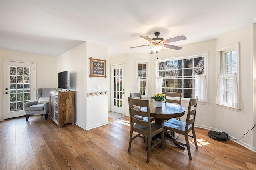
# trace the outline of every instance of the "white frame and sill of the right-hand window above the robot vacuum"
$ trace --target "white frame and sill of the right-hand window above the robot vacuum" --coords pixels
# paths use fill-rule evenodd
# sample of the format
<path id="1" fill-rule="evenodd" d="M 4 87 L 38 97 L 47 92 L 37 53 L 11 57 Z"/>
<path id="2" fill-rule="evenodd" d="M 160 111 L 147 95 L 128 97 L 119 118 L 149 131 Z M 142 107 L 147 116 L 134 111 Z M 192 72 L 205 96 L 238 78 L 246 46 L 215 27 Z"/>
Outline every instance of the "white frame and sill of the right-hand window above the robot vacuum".
<path id="1" fill-rule="evenodd" d="M 220 74 L 225 75 L 224 65 L 227 64 L 227 63 L 224 63 L 224 54 L 227 53 L 227 52 L 231 52 L 231 51 L 236 50 L 236 68 L 237 68 L 236 73 L 237 73 L 237 85 L 238 85 L 237 108 L 231 107 L 230 103 L 224 102 L 225 97 L 223 97 L 222 104 L 217 104 L 216 103 L 216 105 L 219 106 L 219 107 L 223 107 L 223 108 L 230 109 L 230 110 L 233 110 L 233 111 L 238 111 L 238 112 L 240 112 L 240 110 L 241 110 L 240 109 L 240 91 L 239 91 L 239 89 L 240 89 L 240 50 L 239 49 L 240 49 L 239 48 L 239 42 L 236 42 L 236 43 L 233 43 L 233 44 L 230 44 L 230 45 L 227 45 L 225 47 L 217 49 L 218 75 L 220 75 Z M 225 76 L 225 77 L 230 78 L 231 75 L 230 76 Z M 218 86 L 216 86 L 216 88 L 218 88 Z"/>

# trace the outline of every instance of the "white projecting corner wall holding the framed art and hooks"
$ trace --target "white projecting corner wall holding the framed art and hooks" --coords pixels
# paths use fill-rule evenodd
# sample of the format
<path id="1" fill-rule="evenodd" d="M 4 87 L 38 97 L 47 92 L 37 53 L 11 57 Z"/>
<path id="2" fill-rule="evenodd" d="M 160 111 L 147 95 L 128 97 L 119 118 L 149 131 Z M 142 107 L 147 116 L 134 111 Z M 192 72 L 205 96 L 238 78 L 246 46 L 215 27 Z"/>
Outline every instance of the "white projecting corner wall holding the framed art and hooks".
<path id="1" fill-rule="evenodd" d="M 85 130 L 108 123 L 108 96 L 87 97 L 93 86 L 108 89 L 108 77 L 89 77 L 90 57 L 107 60 L 108 48 L 85 42 L 57 57 L 57 72 L 68 71 L 70 90 L 75 91 L 75 123 Z"/>

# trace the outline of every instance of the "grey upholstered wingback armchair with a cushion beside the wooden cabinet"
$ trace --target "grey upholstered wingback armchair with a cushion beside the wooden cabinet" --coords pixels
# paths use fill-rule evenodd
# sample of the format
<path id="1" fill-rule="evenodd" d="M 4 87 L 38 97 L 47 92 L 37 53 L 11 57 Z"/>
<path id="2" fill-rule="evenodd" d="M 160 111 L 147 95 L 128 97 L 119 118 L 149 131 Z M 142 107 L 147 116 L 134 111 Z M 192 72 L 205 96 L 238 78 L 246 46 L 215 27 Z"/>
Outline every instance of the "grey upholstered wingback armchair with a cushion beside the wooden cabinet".
<path id="1" fill-rule="evenodd" d="M 49 109 L 49 91 L 56 90 L 56 88 L 37 89 L 36 101 L 28 101 L 24 104 L 26 113 L 26 120 L 28 121 L 29 115 L 44 115 L 45 120 L 48 119 Z"/>

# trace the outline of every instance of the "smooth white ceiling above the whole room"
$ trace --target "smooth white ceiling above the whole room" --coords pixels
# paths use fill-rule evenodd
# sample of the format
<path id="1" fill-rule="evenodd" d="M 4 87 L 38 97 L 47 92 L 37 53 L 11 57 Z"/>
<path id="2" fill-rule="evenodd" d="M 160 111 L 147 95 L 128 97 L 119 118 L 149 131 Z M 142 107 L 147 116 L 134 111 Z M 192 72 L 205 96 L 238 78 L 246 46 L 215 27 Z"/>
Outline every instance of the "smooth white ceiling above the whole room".
<path id="1" fill-rule="evenodd" d="M 256 0 L 0 0 L 0 49 L 57 57 L 83 42 L 109 55 L 150 53 L 140 36 L 186 45 L 249 26 Z M 173 50 L 173 49 L 168 49 Z M 181 49 L 182 50 L 182 49 Z"/>

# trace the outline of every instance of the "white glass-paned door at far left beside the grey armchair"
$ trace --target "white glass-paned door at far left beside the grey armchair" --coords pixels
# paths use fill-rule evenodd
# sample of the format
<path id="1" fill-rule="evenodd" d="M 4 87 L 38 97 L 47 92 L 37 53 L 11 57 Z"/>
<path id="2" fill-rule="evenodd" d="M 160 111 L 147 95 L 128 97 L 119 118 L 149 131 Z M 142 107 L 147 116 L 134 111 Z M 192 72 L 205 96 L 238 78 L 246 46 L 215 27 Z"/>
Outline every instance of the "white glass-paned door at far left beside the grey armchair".
<path id="1" fill-rule="evenodd" d="M 24 116 L 24 103 L 34 100 L 34 64 L 4 61 L 4 119 Z"/>

